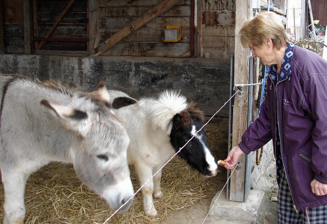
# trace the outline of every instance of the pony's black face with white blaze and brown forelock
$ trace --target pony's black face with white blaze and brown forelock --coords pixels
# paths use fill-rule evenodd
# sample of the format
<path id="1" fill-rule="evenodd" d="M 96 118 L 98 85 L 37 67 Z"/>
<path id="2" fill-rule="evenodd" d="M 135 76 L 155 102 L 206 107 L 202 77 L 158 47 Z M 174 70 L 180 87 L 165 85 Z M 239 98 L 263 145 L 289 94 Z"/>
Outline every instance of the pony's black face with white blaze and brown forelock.
<path id="1" fill-rule="evenodd" d="M 184 111 L 173 118 L 170 141 L 175 151 L 182 148 L 178 155 L 185 159 L 194 169 L 205 176 L 212 177 L 218 173 L 217 161 L 209 150 L 202 119 L 197 114 Z M 197 131 L 200 130 L 198 133 Z M 197 133 L 197 134 L 196 134 Z"/>

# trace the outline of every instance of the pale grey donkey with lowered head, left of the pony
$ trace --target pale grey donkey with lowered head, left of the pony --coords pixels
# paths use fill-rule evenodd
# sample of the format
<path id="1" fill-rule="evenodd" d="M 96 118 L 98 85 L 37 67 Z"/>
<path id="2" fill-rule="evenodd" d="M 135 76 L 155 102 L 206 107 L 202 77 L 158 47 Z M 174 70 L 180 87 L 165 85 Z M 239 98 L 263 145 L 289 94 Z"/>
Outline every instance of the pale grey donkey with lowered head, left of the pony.
<path id="1" fill-rule="evenodd" d="M 113 209 L 133 186 L 127 163 L 129 137 L 113 116 L 104 83 L 83 93 L 54 81 L 0 76 L 0 169 L 5 189 L 5 224 L 24 223 L 25 184 L 51 161 L 73 163 L 80 180 Z"/>

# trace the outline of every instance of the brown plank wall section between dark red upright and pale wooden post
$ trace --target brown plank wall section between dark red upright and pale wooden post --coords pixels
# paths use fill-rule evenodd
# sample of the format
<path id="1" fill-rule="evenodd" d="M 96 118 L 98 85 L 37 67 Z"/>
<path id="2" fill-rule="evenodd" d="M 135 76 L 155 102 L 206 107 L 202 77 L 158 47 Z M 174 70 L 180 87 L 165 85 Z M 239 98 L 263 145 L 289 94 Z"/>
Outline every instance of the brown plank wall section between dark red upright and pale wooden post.
<path id="1" fill-rule="evenodd" d="M 202 0 L 198 25 L 201 58 L 230 59 L 235 50 L 235 0 Z"/>

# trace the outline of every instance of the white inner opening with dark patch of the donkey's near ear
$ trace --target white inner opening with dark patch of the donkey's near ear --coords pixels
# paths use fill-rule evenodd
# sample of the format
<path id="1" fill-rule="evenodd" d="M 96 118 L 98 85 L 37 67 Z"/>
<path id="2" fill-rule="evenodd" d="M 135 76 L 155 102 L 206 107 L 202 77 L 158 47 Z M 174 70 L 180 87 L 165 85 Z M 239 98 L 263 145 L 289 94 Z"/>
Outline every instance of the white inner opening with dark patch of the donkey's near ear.
<path id="1" fill-rule="evenodd" d="M 50 109 L 51 113 L 54 115 L 65 118 L 65 119 L 73 119 L 73 120 L 83 120 L 87 118 L 87 114 L 81 110 L 74 109 L 69 106 L 62 106 L 54 103 L 50 103 L 48 100 L 41 100 L 41 105 Z"/>

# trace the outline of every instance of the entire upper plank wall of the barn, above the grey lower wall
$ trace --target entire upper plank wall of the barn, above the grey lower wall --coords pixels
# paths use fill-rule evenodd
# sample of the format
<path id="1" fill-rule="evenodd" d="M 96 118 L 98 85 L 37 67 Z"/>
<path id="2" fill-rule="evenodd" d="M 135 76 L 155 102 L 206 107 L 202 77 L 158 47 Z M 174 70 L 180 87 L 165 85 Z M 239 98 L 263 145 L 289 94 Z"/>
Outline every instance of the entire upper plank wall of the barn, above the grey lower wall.
<path id="1" fill-rule="evenodd" d="M 49 35 L 60 13 L 69 3 L 67 0 L 29 0 L 36 2 L 37 10 L 34 26 L 34 38 Z M 88 21 L 88 3 L 97 2 L 97 22 Z M 96 33 L 92 35 L 93 44 L 108 39 L 131 21 L 144 16 L 150 9 L 164 0 L 75 0 L 75 3 L 64 15 L 50 38 L 78 39 L 88 37 L 88 24 L 96 25 Z M 2 1 L 4 12 L 4 40 L 6 53 L 24 53 L 24 12 L 23 0 Z M 192 27 L 191 4 L 195 5 L 197 15 Z M 143 27 L 122 39 L 102 55 L 107 56 L 143 56 L 169 58 L 206 58 L 230 59 L 235 47 L 235 0 L 181 0 L 168 11 L 160 14 Z M 181 41 L 166 43 L 162 39 L 166 25 L 181 25 Z M 91 27 L 94 29 L 94 27 Z M 195 35 L 192 35 L 193 32 Z M 37 49 L 37 44 L 34 48 Z M 191 43 L 194 48 L 191 49 Z M 52 51 L 88 51 L 86 42 L 80 41 L 48 41 L 41 50 Z M 34 50 L 35 50 L 34 49 Z M 194 53 L 193 53 L 194 52 Z"/>

